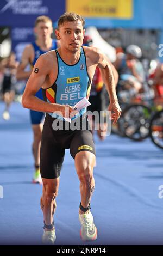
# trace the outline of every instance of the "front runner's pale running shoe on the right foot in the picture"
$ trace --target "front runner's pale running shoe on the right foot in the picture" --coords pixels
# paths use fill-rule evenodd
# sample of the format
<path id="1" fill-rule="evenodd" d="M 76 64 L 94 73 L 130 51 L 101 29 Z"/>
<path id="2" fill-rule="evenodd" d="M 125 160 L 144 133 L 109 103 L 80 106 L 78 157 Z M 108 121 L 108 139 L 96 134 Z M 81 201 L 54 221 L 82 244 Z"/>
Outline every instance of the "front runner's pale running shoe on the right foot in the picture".
<path id="1" fill-rule="evenodd" d="M 93 216 L 88 214 L 79 214 L 79 221 L 82 225 L 80 236 L 83 241 L 93 241 L 97 239 L 97 228 L 93 223 Z"/>

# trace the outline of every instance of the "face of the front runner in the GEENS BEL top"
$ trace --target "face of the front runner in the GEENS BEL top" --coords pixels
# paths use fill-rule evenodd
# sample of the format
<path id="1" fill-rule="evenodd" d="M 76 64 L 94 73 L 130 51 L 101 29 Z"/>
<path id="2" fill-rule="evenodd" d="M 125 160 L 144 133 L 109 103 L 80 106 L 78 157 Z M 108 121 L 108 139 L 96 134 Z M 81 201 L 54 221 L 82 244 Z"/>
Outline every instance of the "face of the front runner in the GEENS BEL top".
<path id="1" fill-rule="evenodd" d="M 55 31 L 61 47 L 71 52 L 76 52 L 83 44 L 84 29 L 82 21 L 67 21 Z"/>

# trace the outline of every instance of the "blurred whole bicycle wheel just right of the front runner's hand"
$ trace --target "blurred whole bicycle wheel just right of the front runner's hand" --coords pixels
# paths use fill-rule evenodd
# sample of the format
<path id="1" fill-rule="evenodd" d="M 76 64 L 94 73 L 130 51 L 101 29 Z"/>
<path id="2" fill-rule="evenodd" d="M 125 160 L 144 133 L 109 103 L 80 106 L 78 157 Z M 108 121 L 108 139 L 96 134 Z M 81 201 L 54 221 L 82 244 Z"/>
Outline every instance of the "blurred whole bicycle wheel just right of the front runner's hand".
<path id="1" fill-rule="evenodd" d="M 120 122 L 121 130 L 128 138 L 134 141 L 142 141 L 149 136 L 151 112 L 149 107 L 141 104 L 126 107 Z"/>

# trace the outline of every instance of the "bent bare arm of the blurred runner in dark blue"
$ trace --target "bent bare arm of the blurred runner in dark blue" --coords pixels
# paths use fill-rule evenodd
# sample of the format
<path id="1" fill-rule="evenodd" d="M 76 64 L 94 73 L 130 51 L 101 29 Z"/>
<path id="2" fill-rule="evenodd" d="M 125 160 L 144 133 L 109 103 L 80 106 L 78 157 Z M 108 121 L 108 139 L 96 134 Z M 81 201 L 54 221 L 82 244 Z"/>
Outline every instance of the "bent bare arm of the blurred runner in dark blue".
<path id="1" fill-rule="evenodd" d="M 24 51 L 22 53 L 21 62 L 17 68 L 17 73 L 16 73 L 17 80 L 29 78 L 32 71 L 25 71 L 25 69 L 26 69 L 26 66 L 30 64 L 30 62 L 32 60 L 32 55 L 33 55 L 32 45 L 27 45 L 26 48 L 24 48 Z"/>

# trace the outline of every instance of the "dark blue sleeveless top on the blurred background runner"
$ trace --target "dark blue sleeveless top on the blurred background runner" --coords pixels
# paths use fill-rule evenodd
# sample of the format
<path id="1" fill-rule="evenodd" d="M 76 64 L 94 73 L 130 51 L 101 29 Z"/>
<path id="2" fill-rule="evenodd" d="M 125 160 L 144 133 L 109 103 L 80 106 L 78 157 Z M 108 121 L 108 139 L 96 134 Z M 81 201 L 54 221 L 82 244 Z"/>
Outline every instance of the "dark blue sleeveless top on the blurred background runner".
<path id="1" fill-rule="evenodd" d="M 42 51 L 42 50 L 40 49 L 40 47 L 36 45 L 35 42 L 33 42 L 32 45 L 33 45 L 33 48 L 34 48 L 34 60 L 33 60 L 33 63 L 32 63 L 32 65 L 31 65 L 31 69 L 33 69 L 33 67 L 34 67 L 34 65 L 35 65 L 35 63 L 36 63 L 36 61 L 37 61 L 37 59 L 39 58 L 39 56 L 40 56 L 41 54 L 47 52 L 47 51 Z M 54 40 L 54 39 L 53 39 L 53 40 L 52 40 L 52 47 L 49 49 L 49 51 L 55 50 L 55 49 L 57 49 L 57 40 Z M 43 95 L 42 95 L 42 90 L 41 90 L 41 88 L 40 88 L 40 90 L 35 94 L 35 96 L 38 97 L 39 99 L 43 100 Z"/>

